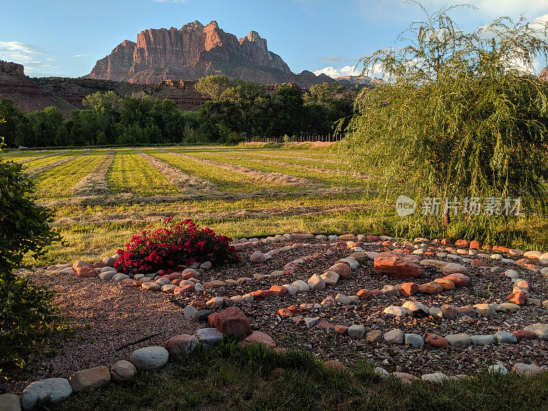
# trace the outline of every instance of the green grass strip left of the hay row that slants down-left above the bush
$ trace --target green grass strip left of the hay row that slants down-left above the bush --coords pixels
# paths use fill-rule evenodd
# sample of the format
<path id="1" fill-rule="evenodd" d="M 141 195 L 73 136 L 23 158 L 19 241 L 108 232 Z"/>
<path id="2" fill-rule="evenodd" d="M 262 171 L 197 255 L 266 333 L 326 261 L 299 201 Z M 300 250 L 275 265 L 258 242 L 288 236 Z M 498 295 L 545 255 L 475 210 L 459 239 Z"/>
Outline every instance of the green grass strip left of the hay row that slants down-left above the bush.
<path id="1" fill-rule="evenodd" d="M 91 151 L 55 166 L 36 177 L 36 195 L 43 200 L 68 198 L 72 188 L 91 173 L 105 157 L 105 151 Z"/>

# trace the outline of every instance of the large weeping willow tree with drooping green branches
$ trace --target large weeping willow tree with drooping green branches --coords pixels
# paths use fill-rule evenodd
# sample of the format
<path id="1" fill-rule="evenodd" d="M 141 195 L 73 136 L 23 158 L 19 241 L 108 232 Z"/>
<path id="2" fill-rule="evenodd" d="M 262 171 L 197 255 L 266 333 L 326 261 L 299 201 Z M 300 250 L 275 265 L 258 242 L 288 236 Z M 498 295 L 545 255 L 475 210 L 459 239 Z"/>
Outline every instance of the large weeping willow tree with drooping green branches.
<path id="1" fill-rule="evenodd" d="M 522 211 L 545 212 L 548 87 L 532 72 L 536 58 L 547 58 L 548 23 L 502 17 L 464 32 L 452 8 L 419 7 L 425 18 L 397 38 L 401 47 L 358 63 L 362 75 L 374 69 L 387 84 L 356 99 L 340 146 L 347 164 L 369 173 L 386 203 L 399 194 L 419 204 L 521 198 Z M 449 223 L 441 209 L 430 224 Z M 470 223 L 464 206 L 458 214 Z"/>

